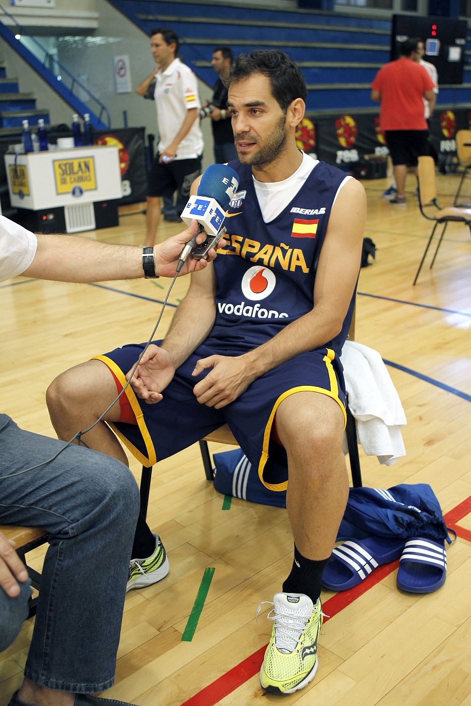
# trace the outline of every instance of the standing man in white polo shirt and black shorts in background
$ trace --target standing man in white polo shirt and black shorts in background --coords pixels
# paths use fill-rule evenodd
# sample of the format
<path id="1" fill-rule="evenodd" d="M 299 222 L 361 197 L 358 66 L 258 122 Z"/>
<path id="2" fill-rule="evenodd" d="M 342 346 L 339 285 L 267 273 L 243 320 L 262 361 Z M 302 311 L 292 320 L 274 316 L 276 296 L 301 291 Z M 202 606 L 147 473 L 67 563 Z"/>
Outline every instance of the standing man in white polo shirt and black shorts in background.
<path id="1" fill-rule="evenodd" d="M 169 29 L 152 30 L 150 49 L 157 68 L 138 85 L 136 93 L 155 100 L 160 136 L 148 177 L 145 245 L 152 247 L 160 221 L 160 199 L 172 198 L 177 191 L 177 213 L 181 213 L 193 180 L 201 174 L 204 143 L 196 76 L 177 58 L 177 34 Z"/>

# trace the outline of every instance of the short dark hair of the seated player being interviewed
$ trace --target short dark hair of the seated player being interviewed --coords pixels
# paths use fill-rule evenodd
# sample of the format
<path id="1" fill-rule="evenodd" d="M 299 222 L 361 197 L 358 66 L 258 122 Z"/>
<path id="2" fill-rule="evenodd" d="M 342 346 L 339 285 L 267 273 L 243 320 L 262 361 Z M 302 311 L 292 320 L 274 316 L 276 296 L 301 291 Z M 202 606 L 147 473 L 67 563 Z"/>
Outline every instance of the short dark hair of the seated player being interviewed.
<path id="1" fill-rule="evenodd" d="M 258 49 L 251 54 L 239 54 L 231 66 L 228 84 L 262 73 L 270 79 L 271 92 L 285 113 L 297 98 L 306 100 L 306 81 L 302 71 L 280 49 Z"/>

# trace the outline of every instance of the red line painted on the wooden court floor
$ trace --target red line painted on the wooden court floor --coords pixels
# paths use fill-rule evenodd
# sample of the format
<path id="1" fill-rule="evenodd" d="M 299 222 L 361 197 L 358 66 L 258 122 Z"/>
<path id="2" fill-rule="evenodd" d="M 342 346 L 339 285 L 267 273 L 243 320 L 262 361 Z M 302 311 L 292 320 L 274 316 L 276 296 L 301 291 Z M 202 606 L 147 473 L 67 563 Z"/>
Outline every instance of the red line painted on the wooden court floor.
<path id="1" fill-rule="evenodd" d="M 462 517 L 465 517 L 470 512 L 471 496 L 446 513 L 444 518 L 446 525 L 448 525 L 448 527 L 452 526 L 452 529 L 455 530 L 458 537 L 462 537 L 471 542 L 470 530 L 465 530 L 464 527 L 455 525 L 455 522 L 458 522 L 458 520 L 461 520 Z M 340 611 L 350 605 L 350 603 L 354 602 L 354 600 L 382 581 L 385 576 L 393 572 L 398 566 L 399 561 L 392 561 L 389 564 L 378 566 L 378 568 L 359 585 L 354 586 L 348 591 L 336 593 L 335 596 L 326 600 L 326 602 L 322 604 L 323 612 L 328 615 L 328 618 L 333 618 L 333 616 L 340 613 Z M 325 618 L 324 622 L 328 621 L 328 618 Z M 213 706 L 220 699 L 230 694 L 239 686 L 242 686 L 243 683 L 249 681 L 252 676 L 258 674 L 265 650 L 266 645 L 263 645 L 259 650 L 215 679 L 213 683 L 208 684 L 208 686 L 205 686 L 201 691 L 198 691 L 197 694 L 184 701 L 181 706 Z"/>

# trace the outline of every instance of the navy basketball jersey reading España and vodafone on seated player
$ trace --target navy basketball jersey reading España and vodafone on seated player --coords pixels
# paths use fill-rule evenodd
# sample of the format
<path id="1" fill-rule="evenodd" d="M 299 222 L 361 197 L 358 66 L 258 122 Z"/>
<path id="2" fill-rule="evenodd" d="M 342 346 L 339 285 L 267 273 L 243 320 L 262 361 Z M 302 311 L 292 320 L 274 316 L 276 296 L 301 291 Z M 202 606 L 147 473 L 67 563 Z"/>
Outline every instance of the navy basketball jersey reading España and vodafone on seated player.
<path id="1" fill-rule="evenodd" d="M 239 175 L 239 191 L 227 209 L 228 245 L 214 262 L 216 318 L 205 343 L 234 354 L 262 345 L 313 308 L 316 266 L 345 172 L 318 162 L 287 207 L 266 223 L 251 167 L 238 160 L 229 166 Z M 338 355 L 353 304 L 354 296 L 342 330 L 325 344 Z"/>

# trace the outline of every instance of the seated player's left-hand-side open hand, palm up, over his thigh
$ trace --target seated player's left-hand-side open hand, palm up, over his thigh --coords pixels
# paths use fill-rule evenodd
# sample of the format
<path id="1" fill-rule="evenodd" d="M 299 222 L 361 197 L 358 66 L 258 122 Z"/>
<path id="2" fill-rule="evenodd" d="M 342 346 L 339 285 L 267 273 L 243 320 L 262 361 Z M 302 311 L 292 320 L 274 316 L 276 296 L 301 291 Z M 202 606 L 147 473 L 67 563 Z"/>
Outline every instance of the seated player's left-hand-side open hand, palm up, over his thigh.
<path id="1" fill-rule="evenodd" d="M 130 373 L 126 375 L 126 380 L 129 380 Z M 154 405 L 162 400 L 162 390 L 165 390 L 174 374 L 172 356 L 165 348 L 151 343 L 131 378 L 131 387 L 148 405 Z"/>

